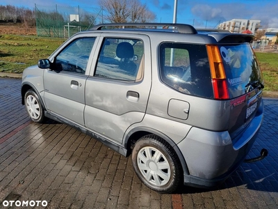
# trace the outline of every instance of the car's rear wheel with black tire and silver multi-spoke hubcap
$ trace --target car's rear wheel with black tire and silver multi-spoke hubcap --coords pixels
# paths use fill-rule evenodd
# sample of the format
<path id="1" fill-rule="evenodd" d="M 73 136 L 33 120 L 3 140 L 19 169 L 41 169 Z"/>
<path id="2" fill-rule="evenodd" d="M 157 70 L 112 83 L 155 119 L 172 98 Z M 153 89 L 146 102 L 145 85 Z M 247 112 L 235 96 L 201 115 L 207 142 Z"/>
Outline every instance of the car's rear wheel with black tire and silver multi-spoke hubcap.
<path id="1" fill-rule="evenodd" d="M 138 178 L 156 192 L 172 193 L 181 182 L 179 157 L 170 144 L 154 134 L 136 142 L 132 164 Z"/>

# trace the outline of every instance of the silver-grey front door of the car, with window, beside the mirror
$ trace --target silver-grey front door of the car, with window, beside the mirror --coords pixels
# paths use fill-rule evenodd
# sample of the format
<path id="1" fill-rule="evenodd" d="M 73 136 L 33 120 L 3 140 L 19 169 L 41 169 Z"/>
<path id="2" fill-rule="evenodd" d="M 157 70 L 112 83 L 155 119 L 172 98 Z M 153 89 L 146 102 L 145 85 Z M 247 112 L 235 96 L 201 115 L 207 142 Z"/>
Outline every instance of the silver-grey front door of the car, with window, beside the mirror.
<path id="1" fill-rule="evenodd" d="M 53 58 L 54 67 L 44 72 L 44 102 L 52 114 L 84 125 L 85 82 L 95 37 L 69 42 Z"/>

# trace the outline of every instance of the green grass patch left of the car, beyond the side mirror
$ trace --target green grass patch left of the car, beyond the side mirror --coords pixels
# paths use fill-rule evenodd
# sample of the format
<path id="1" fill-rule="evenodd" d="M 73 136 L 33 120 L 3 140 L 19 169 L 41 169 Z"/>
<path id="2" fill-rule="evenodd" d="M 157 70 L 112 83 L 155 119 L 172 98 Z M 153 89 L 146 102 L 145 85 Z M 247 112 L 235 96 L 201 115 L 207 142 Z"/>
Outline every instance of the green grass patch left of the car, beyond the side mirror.
<path id="1" fill-rule="evenodd" d="M 0 36 L 0 72 L 23 72 L 49 57 L 65 39 L 36 36 Z"/>

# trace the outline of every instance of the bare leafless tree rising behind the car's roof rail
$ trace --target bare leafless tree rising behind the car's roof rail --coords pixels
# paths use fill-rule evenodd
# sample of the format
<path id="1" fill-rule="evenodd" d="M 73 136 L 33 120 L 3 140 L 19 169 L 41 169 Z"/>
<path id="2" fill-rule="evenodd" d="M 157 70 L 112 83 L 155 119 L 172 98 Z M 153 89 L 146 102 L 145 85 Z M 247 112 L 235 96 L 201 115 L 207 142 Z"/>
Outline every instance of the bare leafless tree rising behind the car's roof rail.
<path id="1" fill-rule="evenodd" d="M 109 22 L 150 22 L 156 15 L 139 0 L 100 0 L 99 5 L 104 8 L 105 20 Z"/>

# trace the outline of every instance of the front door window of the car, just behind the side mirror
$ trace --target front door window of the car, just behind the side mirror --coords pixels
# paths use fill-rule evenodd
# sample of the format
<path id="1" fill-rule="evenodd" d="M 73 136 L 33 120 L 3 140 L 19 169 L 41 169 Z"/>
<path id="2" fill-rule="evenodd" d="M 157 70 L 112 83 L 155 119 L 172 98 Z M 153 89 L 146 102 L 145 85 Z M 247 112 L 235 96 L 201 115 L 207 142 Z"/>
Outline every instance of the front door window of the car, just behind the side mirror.
<path id="1" fill-rule="evenodd" d="M 79 38 L 71 42 L 56 56 L 56 69 L 85 74 L 94 42 L 95 38 L 92 37 Z"/>

